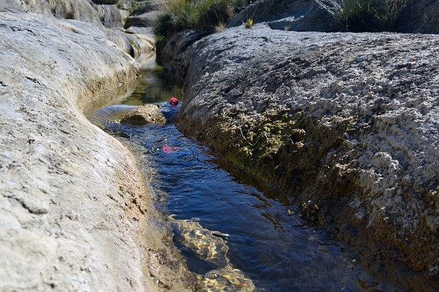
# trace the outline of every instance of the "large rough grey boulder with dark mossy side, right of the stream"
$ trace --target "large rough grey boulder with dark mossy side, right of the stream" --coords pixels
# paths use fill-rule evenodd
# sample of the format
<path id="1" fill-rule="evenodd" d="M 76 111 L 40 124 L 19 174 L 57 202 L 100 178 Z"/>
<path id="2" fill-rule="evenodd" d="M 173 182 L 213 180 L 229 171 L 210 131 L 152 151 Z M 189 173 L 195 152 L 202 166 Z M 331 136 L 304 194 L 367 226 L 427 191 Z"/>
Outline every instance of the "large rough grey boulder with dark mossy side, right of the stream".
<path id="1" fill-rule="evenodd" d="M 364 265 L 392 270 L 405 287 L 437 288 L 438 43 L 225 29 L 184 55 L 178 127 L 281 186 Z"/>

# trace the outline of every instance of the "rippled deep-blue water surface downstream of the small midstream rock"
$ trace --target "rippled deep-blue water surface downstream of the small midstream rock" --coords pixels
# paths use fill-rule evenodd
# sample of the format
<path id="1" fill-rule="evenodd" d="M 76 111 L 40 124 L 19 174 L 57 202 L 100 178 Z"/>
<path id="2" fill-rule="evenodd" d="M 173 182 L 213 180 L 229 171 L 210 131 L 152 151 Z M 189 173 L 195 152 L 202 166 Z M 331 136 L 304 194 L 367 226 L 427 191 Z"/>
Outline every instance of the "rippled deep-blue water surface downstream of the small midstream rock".
<path id="1" fill-rule="evenodd" d="M 244 184 L 242 174 L 236 178 L 219 167 L 208 149 L 182 136 L 175 125 L 131 131 L 158 169 L 153 182 L 166 194 L 163 207 L 175 219 L 196 217 L 202 228 L 229 234 L 230 263 L 259 291 L 362 291 L 366 286 L 392 291 L 362 269 L 346 247 L 307 226 L 284 195 Z M 165 143 L 178 151 L 161 151 Z M 182 249 L 193 271 L 210 271 Z"/>

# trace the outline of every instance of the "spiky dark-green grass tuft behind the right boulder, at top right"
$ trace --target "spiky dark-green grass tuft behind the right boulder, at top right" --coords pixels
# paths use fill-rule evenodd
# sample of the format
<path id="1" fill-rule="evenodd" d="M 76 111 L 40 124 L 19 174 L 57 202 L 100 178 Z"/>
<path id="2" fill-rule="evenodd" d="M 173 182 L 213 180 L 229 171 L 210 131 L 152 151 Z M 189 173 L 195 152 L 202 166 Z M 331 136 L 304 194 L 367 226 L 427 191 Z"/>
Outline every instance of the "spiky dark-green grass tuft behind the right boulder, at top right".
<path id="1" fill-rule="evenodd" d="M 396 20 L 411 0 L 315 0 L 350 32 L 394 29 Z"/>

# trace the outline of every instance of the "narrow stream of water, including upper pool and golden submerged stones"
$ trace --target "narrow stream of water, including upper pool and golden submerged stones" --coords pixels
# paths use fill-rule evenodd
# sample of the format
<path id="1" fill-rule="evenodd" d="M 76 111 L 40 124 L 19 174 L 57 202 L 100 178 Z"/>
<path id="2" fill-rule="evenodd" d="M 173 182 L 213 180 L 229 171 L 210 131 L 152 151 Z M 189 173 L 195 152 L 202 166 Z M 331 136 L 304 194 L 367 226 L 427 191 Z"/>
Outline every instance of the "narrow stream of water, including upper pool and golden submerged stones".
<path id="1" fill-rule="evenodd" d="M 154 69 L 143 72 L 143 81 L 123 104 L 160 104 L 169 116 L 178 110 L 167 104 L 171 96 L 182 99 L 178 82 Z M 238 276 L 223 277 L 229 279 L 222 282 L 223 291 L 251 290 L 246 280 L 255 291 L 395 290 L 361 267 L 348 247 L 308 226 L 283 193 L 227 167 L 173 123 L 122 125 L 121 130 L 129 136 L 121 139 L 141 145 L 140 155 L 156 168 L 152 185 L 161 194 L 158 205 L 171 220 L 182 222 L 176 245 L 200 278 L 221 278 L 221 266 L 227 265 Z M 188 245 L 185 236 L 201 243 Z M 197 247 L 210 249 L 211 257 L 200 256 Z"/>

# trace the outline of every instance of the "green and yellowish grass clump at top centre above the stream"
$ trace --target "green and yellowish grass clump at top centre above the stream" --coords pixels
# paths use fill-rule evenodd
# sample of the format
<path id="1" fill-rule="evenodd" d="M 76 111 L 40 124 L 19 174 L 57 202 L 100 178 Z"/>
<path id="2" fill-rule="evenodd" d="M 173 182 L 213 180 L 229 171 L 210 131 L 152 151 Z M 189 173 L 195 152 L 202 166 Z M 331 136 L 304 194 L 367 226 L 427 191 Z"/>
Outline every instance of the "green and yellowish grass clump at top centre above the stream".
<path id="1" fill-rule="evenodd" d="M 249 0 L 169 0 L 155 34 L 169 38 L 185 29 L 213 33 L 225 27 Z"/>

